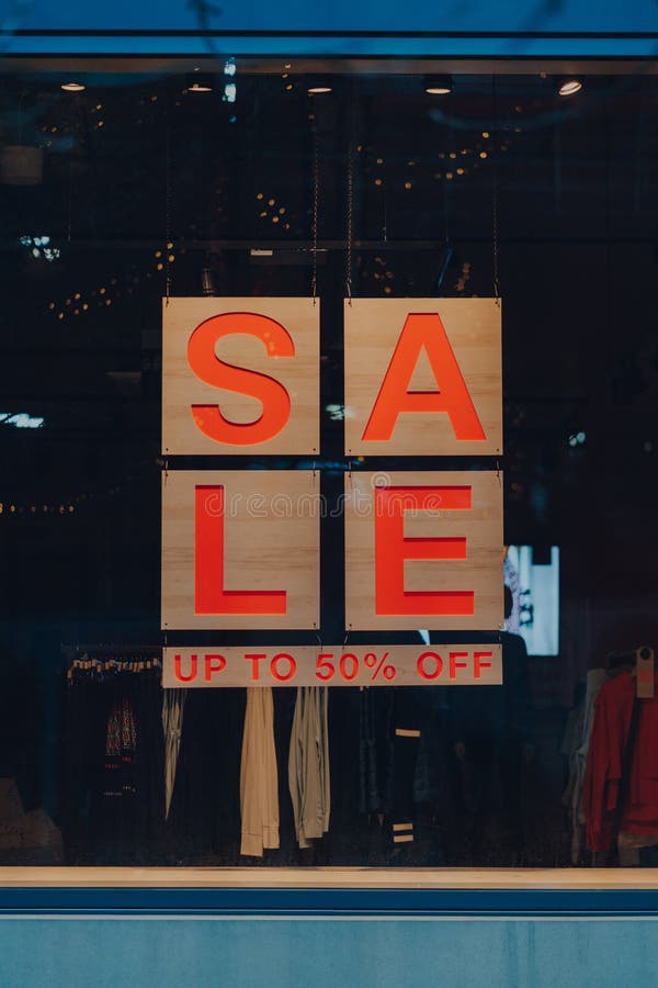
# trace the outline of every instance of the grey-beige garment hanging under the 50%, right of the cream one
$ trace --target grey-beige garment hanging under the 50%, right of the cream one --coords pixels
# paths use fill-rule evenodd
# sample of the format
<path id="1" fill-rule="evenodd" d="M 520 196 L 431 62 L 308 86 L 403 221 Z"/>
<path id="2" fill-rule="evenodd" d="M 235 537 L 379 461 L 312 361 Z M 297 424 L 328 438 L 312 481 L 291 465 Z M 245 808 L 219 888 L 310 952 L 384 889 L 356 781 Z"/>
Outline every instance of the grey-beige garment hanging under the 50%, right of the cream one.
<path id="1" fill-rule="evenodd" d="M 326 686 L 299 686 L 288 753 L 288 787 L 300 847 L 329 829 L 331 807 L 329 773 L 329 691 Z"/>

